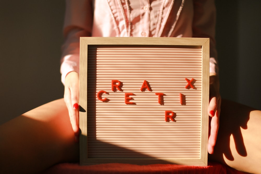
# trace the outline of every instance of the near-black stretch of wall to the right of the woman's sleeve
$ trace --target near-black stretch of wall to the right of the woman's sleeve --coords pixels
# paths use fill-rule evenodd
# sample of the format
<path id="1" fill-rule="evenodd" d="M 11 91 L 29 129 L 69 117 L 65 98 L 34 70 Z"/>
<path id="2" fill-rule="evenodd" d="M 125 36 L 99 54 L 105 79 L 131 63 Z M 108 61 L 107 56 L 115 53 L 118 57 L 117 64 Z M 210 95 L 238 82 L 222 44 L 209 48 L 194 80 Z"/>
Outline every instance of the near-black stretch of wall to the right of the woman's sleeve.
<path id="1" fill-rule="evenodd" d="M 216 1 L 221 95 L 261 110 L 261 1 Z"/>

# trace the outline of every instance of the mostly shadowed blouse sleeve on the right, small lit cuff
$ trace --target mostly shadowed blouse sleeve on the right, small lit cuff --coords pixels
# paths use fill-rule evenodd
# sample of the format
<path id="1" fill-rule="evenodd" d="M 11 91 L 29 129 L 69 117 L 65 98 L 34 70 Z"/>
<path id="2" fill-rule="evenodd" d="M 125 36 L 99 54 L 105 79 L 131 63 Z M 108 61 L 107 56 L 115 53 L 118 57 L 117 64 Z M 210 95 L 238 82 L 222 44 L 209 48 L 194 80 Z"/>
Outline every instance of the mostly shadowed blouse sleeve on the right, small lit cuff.
<path id="1" fill-rule="evenodd" d="M 210 38 L 210 74 L 218 74 L 215 40 L 216 7 L 214 0 L 194 0 L 193 37 Z"/>

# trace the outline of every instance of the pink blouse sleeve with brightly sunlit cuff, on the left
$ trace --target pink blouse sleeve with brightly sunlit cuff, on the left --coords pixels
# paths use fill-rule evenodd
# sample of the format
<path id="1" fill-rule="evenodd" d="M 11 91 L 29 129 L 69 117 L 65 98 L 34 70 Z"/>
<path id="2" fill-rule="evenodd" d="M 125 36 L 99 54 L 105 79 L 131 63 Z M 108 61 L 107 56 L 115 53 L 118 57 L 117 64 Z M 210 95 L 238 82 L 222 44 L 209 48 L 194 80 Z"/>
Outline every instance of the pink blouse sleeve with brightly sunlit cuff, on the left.
<path id="1" fill-rule="evenodd" d="M 79 73 L 80 37 L 89 37 L 92 33 L 92 0 L 66 0 L 66 11 L 63 26 L 65 38 L 62 45 L 61 81 L 64 84 L 66 75 L 71 71 Z"/>

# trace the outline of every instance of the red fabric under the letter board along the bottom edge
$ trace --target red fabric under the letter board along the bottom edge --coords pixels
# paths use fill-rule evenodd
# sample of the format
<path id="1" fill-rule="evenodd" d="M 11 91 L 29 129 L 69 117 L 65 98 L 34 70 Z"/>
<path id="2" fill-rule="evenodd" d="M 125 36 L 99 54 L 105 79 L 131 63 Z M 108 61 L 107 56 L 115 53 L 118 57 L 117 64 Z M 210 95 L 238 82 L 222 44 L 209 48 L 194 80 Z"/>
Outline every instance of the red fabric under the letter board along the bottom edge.
<path id="1" fill-rule="evenodd" d="M 226 165 L 209 162 L 208 166 L 185 166 L 174 164 L 152 164 L 152 165 L 133 165 L 133 164 L 98 164 L 90 166 L 80 166 L 79 164 L 63 163 L 57 164 L 43 172 L 43 174 L 53 173 L 101 173 L 101 174 L 127 174 L 127 173 L 143 173 L 143 174 L 246 174 L 232 169 Z"/>

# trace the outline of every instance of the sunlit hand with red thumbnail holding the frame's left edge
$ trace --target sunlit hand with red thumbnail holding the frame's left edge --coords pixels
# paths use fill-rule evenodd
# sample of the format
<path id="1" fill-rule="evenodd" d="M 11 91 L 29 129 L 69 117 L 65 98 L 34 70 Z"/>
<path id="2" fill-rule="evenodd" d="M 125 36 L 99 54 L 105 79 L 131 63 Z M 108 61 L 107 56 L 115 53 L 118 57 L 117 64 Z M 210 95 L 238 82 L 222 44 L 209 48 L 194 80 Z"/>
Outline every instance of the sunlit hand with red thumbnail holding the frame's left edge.
<path id="1" fill-rule="evenodd" d="M 79 74 L 69 72 L 64 82 L 64 101 L 69 111 L 70 121 L 75 135 L 75 141 L 79 141 Z"/>

